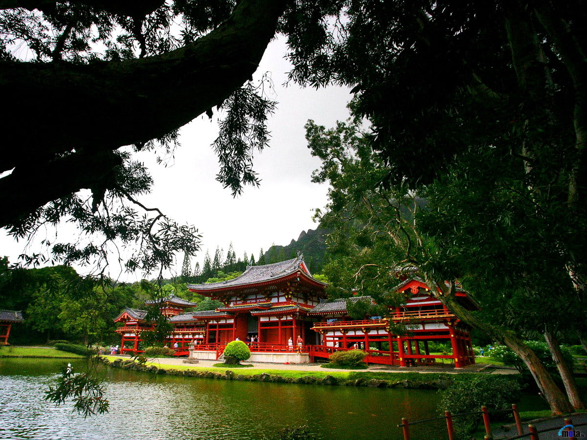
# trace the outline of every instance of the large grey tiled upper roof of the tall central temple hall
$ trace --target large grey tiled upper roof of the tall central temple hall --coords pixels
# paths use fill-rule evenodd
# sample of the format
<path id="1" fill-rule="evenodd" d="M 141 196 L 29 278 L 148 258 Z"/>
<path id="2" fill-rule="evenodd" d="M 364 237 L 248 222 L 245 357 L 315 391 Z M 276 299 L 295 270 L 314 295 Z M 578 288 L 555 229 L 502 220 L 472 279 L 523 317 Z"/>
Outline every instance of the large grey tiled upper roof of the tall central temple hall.
<path id="1" fill-rule="evenodd" d="M 303 262 L 303 256 L 291 260 L 281 261 L 279 263 L 272 263 L 263 266 L 248 266 L 247 270 L 242 275 L 228 281 L 221 281 L 219 283 L 188 285 L 191 290 L 214 290 L 225 289 L 227 287 L 241 287 L 250 284 L 257 284 L 276 280 L 284 276 L 292 275 L 301 270 L 312 279 L 314 282 L 325 286 L 325 283 L 314 279 L 309 272 L 306 264 Z"/>

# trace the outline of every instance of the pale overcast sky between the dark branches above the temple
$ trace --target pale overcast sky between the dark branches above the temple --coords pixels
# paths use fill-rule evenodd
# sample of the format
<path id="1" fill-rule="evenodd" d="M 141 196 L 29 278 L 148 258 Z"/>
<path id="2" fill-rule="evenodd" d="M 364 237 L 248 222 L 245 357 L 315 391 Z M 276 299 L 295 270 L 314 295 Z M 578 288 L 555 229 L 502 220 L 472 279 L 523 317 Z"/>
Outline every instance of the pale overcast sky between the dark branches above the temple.
<path id="1" fill-rule="evenodd" d="M 207 249 L 213 257 L 217 245 L 224 249 L 225 256 L 230 242 L 237 258 L 246 251 L 257 259 L 259 249 L 266 251 L 272 243 L 287 245 L 301 231 L 316 228 L 313 209 L 326 204 L 327 188 L 310 181 L 320 161 L 308 150 L 303 126 L 308 119 L 327 127 L 346 120 L 346 104 L 351 96 L 348 89 L 340 87 L 315 90 L 295 84 L 282 86 L 291 69 L 284 59 L 285 52 L 283 38 L 271 42 L 256 73 L 258 79 L 271 72 L 275 96 L 268 97 L 279 103 L 268 121 L 271 148 L 255 154 L 254 170 L 262 180 L 261 187 L 245 187 L 241 196 L 232 198 L 230 190 L 215 180 L 218 160 L 210 144 L 218 133 L 216 114 L 212 120 L 200 116 L 181 128 L 181 146 L 167 167 L 157 164 L 153 153 L 136 155 L 154 179 L 153 192 L 141 197 L 141 202 L 160 208 L 181 224 L 194 225 L 203 235 L 202 250 L 194 263 L 203 261 Z M 2 231 L 0 249 L 0 255 L 8 255 L 11 262 L 16 262 L 23 244 Z M 176 269 L 180 272 L 183 255 L 177 258 Z M 142 276 L 120 276 L 116 270 L 110 275 L 122 280 Z"/>

